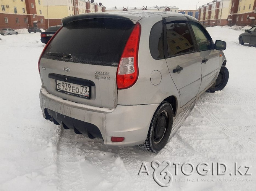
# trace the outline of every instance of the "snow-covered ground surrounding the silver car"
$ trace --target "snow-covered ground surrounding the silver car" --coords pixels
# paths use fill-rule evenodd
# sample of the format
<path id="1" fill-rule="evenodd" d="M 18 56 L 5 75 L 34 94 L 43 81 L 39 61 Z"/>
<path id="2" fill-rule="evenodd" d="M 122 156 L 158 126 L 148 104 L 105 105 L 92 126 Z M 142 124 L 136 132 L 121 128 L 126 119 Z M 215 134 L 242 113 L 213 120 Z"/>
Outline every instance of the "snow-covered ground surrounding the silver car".
<path id="1" fill-rule="evenodd" d="M 227 41 L 228 84 L 223 91 L 204 93 L 184 110 L 158 154 L 136 146 L 107 147 L 100 139 L 46 121 L 39 107 L 40 33 L 1 36 L 0 190 L 256 190 L 256 48 L 239 45 L 241 30 L 207 30 L 214 40 Z M 169 187 L 154 181 L 153 160 L 180 163 L 177 175 L 175 166 L 169 167 Z M 150 175 L 138 175 L 142 162 Z M 181 173 L 185 162 L 194 166 L 190 176 Z M 213 163 L 214 175 L 212 170 L 199 175 L 201 162 L 209 164 L 205 169 Z M 235 162 L 243 175 L 235 175 Z M 225 175 L 217 175 L 217 163 L 226 164 Z"/>

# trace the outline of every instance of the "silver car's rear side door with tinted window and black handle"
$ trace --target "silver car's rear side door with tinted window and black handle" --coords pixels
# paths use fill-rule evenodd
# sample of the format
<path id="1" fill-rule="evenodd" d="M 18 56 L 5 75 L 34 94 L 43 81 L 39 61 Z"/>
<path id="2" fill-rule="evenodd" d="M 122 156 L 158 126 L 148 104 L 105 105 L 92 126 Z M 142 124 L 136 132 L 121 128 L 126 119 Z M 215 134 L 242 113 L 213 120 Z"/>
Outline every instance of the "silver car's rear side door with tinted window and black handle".
<path id="1" fill-rule="evenodd" d="M 164 18 L 164 53 L 167 66 L 184 106 L 197 94 L 202 66 L 185 17 Z"/>

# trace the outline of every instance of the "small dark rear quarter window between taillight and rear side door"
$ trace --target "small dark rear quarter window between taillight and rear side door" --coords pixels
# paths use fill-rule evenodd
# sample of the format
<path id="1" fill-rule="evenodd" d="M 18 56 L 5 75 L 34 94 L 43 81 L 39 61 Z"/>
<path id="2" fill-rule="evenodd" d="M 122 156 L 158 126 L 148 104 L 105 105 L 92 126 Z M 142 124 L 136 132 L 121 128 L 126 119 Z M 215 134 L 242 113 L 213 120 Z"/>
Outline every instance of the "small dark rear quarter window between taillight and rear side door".
<path id="1" fill-rule="evenodd" d="M 149 49 L 154 59 L 164 58 L 163 27 L 162 22 L 157 22 L 151 29 Z"/>

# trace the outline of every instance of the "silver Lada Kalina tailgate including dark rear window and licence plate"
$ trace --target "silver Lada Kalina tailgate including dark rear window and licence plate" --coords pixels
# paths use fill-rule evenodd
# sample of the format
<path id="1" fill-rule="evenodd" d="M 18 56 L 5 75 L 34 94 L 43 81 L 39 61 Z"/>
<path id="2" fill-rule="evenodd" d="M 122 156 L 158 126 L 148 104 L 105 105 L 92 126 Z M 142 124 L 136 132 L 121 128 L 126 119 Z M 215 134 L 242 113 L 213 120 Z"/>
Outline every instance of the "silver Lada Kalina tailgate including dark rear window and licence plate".
<path id="1" fill-rule="evenodd" d="M 65 24 L 40 60 L 44 88 L 76 103 L 115 108 L 117 67 L 133 27 L 124 18 L 88 18 Z"/>

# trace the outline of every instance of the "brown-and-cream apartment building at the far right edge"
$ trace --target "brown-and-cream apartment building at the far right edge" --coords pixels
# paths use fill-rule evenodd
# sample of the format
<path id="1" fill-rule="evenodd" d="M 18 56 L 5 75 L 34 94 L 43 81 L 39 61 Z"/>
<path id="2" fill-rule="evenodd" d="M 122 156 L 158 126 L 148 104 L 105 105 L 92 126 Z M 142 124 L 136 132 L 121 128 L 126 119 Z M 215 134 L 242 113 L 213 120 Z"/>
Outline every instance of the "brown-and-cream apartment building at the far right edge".
<path id="1" fill-rule="evenodd" d="M 229 25 L 256 25 L 256 0 L 230 0 Z"/>

